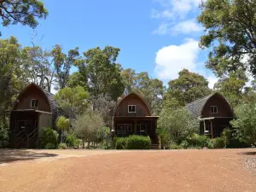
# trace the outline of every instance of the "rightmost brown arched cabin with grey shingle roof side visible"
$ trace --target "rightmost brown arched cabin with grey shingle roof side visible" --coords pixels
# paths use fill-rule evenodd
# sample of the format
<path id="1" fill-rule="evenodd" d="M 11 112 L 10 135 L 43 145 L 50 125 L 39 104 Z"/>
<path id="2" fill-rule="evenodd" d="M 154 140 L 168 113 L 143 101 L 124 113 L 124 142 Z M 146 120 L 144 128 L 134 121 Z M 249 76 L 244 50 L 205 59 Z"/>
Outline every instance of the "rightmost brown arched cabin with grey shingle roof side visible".
<path id="1" fill-rule="evenodd" d="M 200 119 L 200 133 L 219 137 L 224 128 L 231 128 L 234 113 L 224 96 L 215 92 L 186 106 L 194 118 Z"/>

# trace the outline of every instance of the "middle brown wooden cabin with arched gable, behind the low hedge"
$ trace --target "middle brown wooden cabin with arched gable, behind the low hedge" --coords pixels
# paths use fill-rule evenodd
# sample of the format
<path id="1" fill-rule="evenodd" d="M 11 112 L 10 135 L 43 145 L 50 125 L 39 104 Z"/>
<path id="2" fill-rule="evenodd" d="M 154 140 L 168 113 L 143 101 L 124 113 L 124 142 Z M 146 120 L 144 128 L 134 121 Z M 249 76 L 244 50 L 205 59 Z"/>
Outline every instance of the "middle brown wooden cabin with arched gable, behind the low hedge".
<path id="1" fill-rule="evenodd" d="M 136 93 L 125 96 L 115 109 L 113 131 L 115 137 L 130 135 L 149 136 L 152 144 L 158 144 L 155 133 L 157 116 L 151 116 L 143 98 Z"/>

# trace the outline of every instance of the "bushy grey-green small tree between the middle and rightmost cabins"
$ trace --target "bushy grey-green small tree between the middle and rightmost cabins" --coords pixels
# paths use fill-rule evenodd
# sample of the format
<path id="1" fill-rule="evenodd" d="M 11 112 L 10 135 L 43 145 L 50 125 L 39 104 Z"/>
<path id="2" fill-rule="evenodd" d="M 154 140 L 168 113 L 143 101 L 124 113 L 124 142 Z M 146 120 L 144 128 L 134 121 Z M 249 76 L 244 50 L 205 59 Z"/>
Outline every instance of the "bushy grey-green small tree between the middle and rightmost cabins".
<path id="1" fill-rule="evenodd" d="M 169 137 L 169 141 L 181 143 L 198 129 L 199 121 L 193 119 L 185 108 L 176 110 L 165 108 L 160 113 L 157 132 L 160 133 L 160 137 L 163 135 L 165 140 Z"/>

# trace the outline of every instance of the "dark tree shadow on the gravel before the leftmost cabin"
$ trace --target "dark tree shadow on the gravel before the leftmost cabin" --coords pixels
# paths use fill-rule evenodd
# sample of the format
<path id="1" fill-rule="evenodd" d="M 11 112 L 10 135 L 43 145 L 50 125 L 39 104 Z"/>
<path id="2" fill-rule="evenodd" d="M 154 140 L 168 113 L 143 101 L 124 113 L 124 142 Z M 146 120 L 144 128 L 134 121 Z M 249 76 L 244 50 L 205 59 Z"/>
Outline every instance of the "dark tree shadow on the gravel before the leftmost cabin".
<path id="1" fill-rule="evenodd" d="M 0 149 L 0 164 L 18 160 L 37 160 L 45 157 L 55 157 L 58 154 L 35 153 L 26 149 Z"/>

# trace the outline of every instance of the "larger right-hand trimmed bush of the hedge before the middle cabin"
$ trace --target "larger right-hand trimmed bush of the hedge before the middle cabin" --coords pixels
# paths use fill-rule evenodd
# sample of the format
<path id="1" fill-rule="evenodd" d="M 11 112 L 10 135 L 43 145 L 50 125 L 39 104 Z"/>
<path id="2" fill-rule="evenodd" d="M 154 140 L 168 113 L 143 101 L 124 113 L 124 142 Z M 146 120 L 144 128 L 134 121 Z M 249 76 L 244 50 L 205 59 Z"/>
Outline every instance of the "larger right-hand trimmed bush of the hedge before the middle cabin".
<path id="1" fill-rule="evenodd" d="M 126 138 L 127 149 L 149 149 L 150 138 L 143 136 L 129 136 Z"/>

